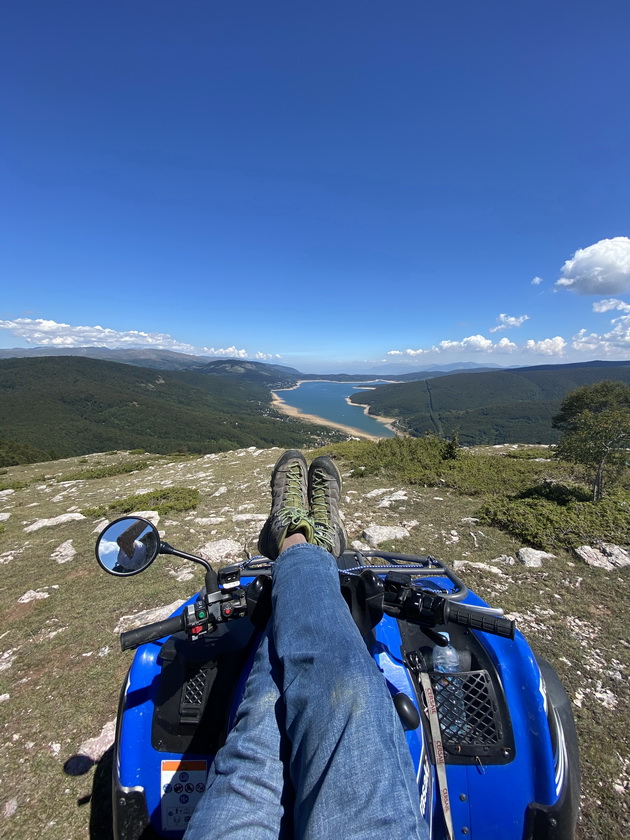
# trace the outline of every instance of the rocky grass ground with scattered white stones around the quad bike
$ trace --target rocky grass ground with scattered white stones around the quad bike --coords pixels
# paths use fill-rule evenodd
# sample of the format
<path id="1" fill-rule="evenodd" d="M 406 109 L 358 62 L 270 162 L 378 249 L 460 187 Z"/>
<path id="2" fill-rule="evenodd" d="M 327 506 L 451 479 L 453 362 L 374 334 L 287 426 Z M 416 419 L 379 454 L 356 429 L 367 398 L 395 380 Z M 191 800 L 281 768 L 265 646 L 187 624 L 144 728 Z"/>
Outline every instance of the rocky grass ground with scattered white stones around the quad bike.
<path id="1" fill-rule="evenodd" d="M 499 457 L 501 450 L 481 454 L 488 453 Z M 163 514 L 160 531 L 191 552 L 230 538 L 244 557 L 255 551 L 277 455 L 241 450 L 174 459 L 109 453 L 12 467 L 1 476 L 8 492 L 0 491 L 0 514 L 10 514 L 0 519 L 1 836 L 89 836 L 95 769 L 74 776 L 64 767 L 115 716 L 131 654 L 120 653 L 113 629 L 123 615 L 186 598 L 202 584 L 197 567 L 175 558 L 160 558 L 129 580 L 103 574 L 93 555 L 95 514 L 25 529 L 134 494 L 194 488 L 197 506 Z M 351 459 L 340 463 L 348 473 Z M 551 475 L 557 468 L 540 462 L 537 469 Z M 430 552 L 458 564 L 471 588 L 518 619 L 533 647 L 556 666 L 573 701 L 582 749 L 581 840 L 629 836 L 629 570 L 593 569 L 567 551 L 539 569 L 498 561 L 500 555 L 515 556 L 521 544 L 471 521 L 487 494 L 439 480 L 424 486 L 413 476 L 400 481 L 395 471 L 358 475 L 345 478 L 350 538 L 362 540 L 371 524 L 405 525 L 410 536 L 390 548 Z M 368 495 L 374 490 L 383 492 Z M 405 498 L 388 501 L 400 490 Z M 72 549 L 72 559 L 59 562 Z M 178 579 L 184 570 L 192 579 Z"/>

